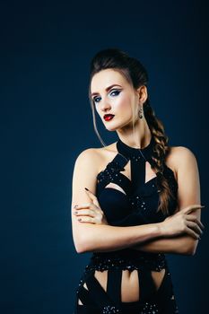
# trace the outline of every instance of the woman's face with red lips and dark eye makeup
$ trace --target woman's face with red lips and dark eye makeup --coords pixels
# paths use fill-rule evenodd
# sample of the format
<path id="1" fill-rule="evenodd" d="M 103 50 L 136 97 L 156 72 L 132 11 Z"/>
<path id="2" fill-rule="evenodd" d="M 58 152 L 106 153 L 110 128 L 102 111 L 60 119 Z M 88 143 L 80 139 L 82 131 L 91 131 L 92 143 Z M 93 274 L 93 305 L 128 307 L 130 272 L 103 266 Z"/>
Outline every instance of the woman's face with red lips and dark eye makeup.
<path id="1" fill-rule="evenodd" d="M 132 106 L 137 118 L 139 98 L 126 78 L 113 69 L 101 70 L 91 79 L 91 99 L 109 131 L 131 126 Z M 107 115 L 107 119 L 105 119 Z M 114 115 L 113 118 L 108 115 Z"/>

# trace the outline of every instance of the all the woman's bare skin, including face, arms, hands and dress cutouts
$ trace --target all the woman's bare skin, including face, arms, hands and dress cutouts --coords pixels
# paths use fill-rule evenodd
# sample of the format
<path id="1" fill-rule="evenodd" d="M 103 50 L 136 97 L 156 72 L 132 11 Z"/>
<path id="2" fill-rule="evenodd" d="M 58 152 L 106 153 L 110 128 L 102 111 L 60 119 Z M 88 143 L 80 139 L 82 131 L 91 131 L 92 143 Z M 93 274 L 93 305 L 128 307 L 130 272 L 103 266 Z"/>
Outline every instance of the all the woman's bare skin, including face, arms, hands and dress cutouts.
<path id="1" fill-rule="evenodd" d="M 117 86 L 120 85 L 120 86 Z M 109 91 L 106 88 L 112 86 Z M 115 91 L 115 94 L 114 92 Z M 116 91 L 120 91 L 119 94 Z M 106 69 L 95 74 L 91 80 L 91 93 L 95 109 L 102 123 L 109 131 L 116 131 L 118 137 L 132 147 L 144 147 L 150 142 L 151 132 L 145 118 L 137 118 L 139 106 L 144 105 L 147 90 L 143 85 L 134 90 L 122 74 Z M 116 95 L 117 94 L 117 95 Z M 131 105 L 135 108 L 135 133 L 133 133 Z M 104 114 L 115 117 L 110 121 L 103 119 Z M 173 146 L 167 156 L 166 164 L 173 170 L 178 181 L 178 208 L 175 214 L 164 222 L 116 227 L 109 225 L 96 197 L 96 176 L 104 170 L 107 163 L 117 154 L 116 143 L 106 148 L 90 148 L 77 157 L 74 164 L 72 185 L 72 225 L 74 246 L 78 253 L 93 251 L 112 251 L 132 248 L 155 253 L 194 255 L 199 236 L 204 225 L 200 221 L 200 182 L 196 157 L 187 147 Z M 123 174 L 130 177 L 130 162 Z M 156 174 L 146 162 L 145 182 Z M 107 187 L 118 188 L 110 183 Z M 89 191 L 86 191 L 88 188 Z M 74 208 L 74 205 L 77 205 Z M 161 285 L 164 269 L 152 271 L 156 288 Z M 103 289 L 107 290 L 107 271 L 95 272 L 95 277 Z M 87 288 L 84 284 L 84 287 Z M 121 299 L 124 302 L 137 301 L 139 283 L 136 271 L 123 271 Z M 81 301 L 79 301 L 80 304 Z"/>

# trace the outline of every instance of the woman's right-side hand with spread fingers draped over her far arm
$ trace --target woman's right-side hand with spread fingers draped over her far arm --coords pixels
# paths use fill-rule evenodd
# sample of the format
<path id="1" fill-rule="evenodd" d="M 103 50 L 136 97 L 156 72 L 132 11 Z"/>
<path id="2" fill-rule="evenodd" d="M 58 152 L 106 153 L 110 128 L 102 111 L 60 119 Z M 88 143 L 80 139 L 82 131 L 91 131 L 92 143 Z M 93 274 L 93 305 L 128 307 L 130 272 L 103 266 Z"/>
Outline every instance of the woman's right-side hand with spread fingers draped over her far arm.
<path id="1" fill-rule="evenodd" d="M 161 231 L 164 236 L 177 236 L 187 233 L 198 240 L 205 228 L 193 212 L 198 208 L 203 208 L 203 205 L 189 205 L 178 213 L 167 217 L 163 222 L 160 222 Z"/>

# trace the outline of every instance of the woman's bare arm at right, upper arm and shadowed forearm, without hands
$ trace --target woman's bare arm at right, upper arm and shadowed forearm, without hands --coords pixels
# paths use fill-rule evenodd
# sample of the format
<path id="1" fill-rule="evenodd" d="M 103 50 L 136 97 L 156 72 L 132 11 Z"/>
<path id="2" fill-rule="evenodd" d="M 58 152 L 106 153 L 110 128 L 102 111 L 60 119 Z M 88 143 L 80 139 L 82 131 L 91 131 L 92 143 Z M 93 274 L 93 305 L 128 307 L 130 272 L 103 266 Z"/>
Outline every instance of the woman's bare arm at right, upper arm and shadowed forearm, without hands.
<path id="1" fill-rule="evenodd" d="M 187 205 L 200 204 L 200 182 L 199 173 L 195 155 L 186 147 L 175 147 L 175 164 L 177 167 L 178 177 L 178 210 L 182 210 Z M 200 220 L 200 209 L 194 213 Z M 198 240 L 190 235 L 183 234 L 172 239 L 152 240 L 148 243 L 134 247 L 147 252 L 159 253 L 176 253 L 194 255 Z"/>

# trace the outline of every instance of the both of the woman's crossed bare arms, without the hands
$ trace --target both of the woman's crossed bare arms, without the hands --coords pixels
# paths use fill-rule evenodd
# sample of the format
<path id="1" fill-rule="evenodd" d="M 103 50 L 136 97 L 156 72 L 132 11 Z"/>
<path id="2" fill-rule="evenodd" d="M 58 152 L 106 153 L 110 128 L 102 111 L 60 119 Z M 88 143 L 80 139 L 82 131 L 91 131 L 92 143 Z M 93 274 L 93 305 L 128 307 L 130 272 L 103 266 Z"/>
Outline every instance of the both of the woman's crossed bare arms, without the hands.
<path id="1" fill-rule="evenodd" d="M 187 205 L 200 204 L 200 187 L 194 154 L 185 147 L 179 147 L 176 155 L 178 155 L 178 203 L 179 210 L 181 210 Z M 77 252 L 132 248 L 156 253 L 195 254 L 198 240 L 187 234 L 165 238 L 161 223 L 115 227 L 78 222 L 73 214 L 74 205 L 89 202 L 85 187 L 92 192 L 95 191 L 97 171 L 93 170 L 96 168 L 93 167 L 93 164 L 97 162 L 97 158 L 94 150 L 88 149 L 79 155 L 74 166 L 72 222 L 74 245 Z M 200 220 L 200 209 L 196 209 L 194 214 Z"/>

